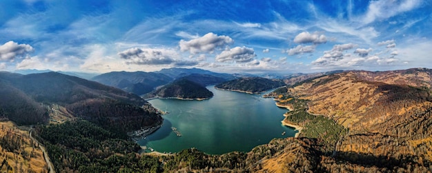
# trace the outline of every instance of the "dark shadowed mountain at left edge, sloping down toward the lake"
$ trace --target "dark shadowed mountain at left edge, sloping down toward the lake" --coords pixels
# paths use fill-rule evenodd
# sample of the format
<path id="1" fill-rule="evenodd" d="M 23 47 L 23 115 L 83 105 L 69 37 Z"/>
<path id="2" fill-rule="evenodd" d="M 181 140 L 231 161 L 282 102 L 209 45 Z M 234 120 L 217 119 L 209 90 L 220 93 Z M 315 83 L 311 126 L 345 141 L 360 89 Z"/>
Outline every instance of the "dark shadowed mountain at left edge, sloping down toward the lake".
<path id="1" fill-rule="evenodd" d="M 121 132 L 162 121 L 157 110 L 135 94 L 58 72 L 0 72 L 0 86 L 0 114 L 18 124 L 47 123 L 52 104 Z"/>

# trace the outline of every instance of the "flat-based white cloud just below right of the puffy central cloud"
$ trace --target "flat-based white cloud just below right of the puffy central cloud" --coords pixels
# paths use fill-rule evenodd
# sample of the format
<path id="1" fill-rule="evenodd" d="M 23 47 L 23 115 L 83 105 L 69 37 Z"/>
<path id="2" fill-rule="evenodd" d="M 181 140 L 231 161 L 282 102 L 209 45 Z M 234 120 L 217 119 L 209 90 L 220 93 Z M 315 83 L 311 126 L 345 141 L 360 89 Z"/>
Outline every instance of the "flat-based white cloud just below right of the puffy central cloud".
<path id="1" fill-rule="evenodd" d="M 237 63 L 246 63 L 253 61 L 253 58 L 256 57 L 256 54 L 253 48 L 243 47 L 235 47 L 230 50 L 224 50 L 219 55 L 216 56 L 216 61 L 226 62 L 226 61 L 235 61 Z"/>

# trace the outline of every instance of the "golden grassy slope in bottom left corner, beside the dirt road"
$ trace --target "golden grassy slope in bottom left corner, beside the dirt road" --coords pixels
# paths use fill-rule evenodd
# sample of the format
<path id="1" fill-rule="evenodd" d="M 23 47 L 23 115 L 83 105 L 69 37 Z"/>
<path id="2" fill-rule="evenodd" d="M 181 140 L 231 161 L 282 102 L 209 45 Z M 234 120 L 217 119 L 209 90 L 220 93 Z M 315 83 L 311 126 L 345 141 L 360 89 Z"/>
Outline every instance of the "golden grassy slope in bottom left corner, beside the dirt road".
<path id="1" fill-rule="evenodd" d="M 48 172 L 43 152 L 28 131 L 10 121 L 1 121 L 0 128 L 1 172 Z"/>

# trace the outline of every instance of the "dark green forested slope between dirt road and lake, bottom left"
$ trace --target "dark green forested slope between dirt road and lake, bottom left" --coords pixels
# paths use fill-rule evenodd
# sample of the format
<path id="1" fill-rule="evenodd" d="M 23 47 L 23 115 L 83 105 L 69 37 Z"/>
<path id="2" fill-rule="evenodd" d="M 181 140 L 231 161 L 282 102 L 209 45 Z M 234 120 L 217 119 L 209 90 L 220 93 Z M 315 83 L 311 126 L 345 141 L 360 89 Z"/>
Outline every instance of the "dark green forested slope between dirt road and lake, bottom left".
<path id="1" fill-rule="evenodd" d="M 126 162 L 139 162 L 137 143 L 88 121 L 38 126 L 35 131 L 56 172 L 117 172 Z"/>

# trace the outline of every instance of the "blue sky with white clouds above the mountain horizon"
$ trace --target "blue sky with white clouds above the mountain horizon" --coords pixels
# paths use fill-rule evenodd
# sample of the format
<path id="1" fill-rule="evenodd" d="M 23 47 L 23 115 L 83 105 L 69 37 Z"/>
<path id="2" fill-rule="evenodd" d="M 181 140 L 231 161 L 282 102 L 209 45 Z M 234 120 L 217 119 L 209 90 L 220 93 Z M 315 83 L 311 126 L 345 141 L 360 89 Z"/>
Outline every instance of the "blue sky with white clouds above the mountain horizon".
<path id="1" fill-rule="evenodd" d="M 0 1 L 0 70 L 432 68 L 432 1 Z"/>

